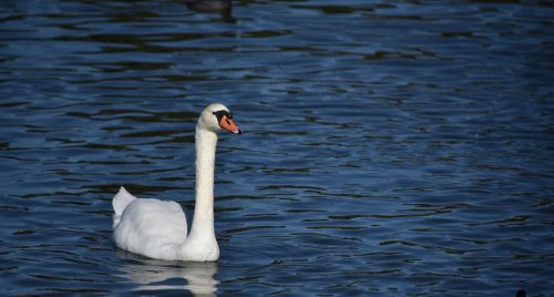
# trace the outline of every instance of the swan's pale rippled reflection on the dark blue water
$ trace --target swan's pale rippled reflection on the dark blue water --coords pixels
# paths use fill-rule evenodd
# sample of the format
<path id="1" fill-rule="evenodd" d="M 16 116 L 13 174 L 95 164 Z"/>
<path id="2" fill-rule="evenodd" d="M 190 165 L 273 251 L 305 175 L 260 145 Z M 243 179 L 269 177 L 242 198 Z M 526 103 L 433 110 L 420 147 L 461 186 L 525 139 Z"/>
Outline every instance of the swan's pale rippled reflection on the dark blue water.
<path id="1" fill-rule="evenodd" d="M 140 285 L 135 290 L 189 290 L 195 296 L 216 296 L 217 263 L 167 262 L 142 258 L 121 252 L 129 263 L 120 270 L 124 277 Z"/>

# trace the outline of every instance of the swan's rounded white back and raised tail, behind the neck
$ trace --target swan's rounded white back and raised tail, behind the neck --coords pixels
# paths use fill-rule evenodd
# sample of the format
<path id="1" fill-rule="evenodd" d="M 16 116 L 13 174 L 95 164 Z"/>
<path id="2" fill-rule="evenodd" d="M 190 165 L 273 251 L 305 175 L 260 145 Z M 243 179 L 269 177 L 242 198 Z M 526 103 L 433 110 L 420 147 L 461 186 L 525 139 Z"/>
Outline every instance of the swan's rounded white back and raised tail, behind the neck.
<path id="1" fill-rule="evenodd" d="M 185 214 L 175 202 L 140 199 L 125 188 L 113 198 L 114 239 L 123 249 L 158 259 L 176 259 L 185 243 Z"/>

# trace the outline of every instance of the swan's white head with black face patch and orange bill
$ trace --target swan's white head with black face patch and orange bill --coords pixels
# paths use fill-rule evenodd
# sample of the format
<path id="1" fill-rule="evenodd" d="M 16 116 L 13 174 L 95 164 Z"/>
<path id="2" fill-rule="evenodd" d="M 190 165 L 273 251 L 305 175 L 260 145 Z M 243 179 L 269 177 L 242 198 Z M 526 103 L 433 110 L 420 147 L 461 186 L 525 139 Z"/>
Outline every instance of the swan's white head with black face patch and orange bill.
<path id="1" fill-rule="evenodd" d="M 212 132 L 218 132 L 223 129 L 230 133 L 243 134 L 243 131 L 235 124 L 229 110 L 219 103 L 211 104 L 204 109 L 201 119 L 198 119 L 198 127 Z"/>

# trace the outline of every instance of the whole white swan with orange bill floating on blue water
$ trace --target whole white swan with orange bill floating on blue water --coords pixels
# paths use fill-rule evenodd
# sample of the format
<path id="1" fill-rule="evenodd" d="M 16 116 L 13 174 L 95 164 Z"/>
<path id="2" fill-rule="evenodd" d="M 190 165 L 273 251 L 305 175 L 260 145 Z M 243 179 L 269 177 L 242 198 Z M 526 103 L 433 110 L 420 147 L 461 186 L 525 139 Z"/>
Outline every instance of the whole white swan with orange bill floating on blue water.
<path id="1" fill-rule="evenodd" d="M 225 105 L 214 103 L 196 124 L 196 204 L 187 236 L 185 213 L 179 204 L 136 198 L 124 187 L 113 197 L 115 245 L 154 259 L 215 262 L 219 247 L 214 232 L 214 165 L 217 132 L 242 134 Z"/>

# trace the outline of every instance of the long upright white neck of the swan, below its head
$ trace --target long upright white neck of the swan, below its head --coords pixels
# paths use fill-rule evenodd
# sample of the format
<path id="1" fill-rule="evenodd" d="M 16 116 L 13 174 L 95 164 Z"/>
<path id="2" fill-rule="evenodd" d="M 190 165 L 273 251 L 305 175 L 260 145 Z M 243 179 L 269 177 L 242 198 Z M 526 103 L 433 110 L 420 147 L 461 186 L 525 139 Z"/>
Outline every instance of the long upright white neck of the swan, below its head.
<path id="1" fill-rule="evenodd" d="M 217 134 L 196 127 L 196 205 L 185 245 L 184 259 L 209 260 L 219 255 L 214 232 L 214 167 Z M 204 259 L 203 259 L 204 258 Z"/>

